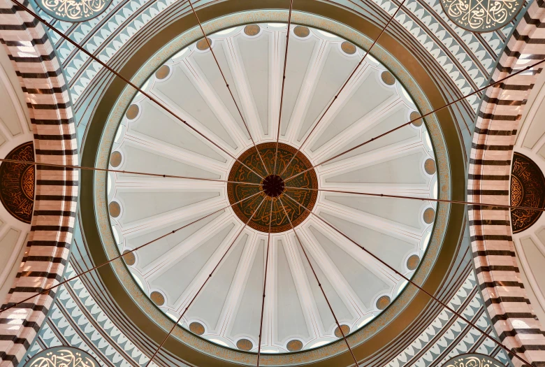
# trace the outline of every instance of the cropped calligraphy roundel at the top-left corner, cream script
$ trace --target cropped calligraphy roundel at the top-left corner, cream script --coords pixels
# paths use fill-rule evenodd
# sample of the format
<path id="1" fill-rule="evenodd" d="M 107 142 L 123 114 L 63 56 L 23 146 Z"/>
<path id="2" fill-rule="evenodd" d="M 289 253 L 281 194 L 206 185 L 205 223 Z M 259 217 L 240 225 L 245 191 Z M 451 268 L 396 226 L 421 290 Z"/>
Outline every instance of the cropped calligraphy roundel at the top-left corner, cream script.
<path id="1" fill-rule="evenodd" d="M 112 0 L 36 0 L 45 13 L 66 22 L 83 22 L 101 14 Z"/>

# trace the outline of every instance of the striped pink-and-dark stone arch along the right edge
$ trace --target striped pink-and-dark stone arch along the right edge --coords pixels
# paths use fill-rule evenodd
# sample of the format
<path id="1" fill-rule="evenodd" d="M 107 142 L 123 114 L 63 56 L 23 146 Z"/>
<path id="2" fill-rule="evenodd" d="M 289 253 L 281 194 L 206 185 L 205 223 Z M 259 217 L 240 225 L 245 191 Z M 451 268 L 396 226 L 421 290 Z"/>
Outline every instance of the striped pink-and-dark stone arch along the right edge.
<path id="1" fill-rule="evenodd" d="M 545 59 L 545 1 L 528 8 L 493 73 L 505 78 Z M 509 205 L 513 145 L 525 103 L 544 64 L 486 89 L 473 135 L 467 196 L 469 201 Z M 545 333 L 518 274 L 505 208 L 468 208 L 474 265 L 497 334 L 504 345 L 532 366 L 545 366 Z M 521 361 L 511 358 L 515 366 Z"/>

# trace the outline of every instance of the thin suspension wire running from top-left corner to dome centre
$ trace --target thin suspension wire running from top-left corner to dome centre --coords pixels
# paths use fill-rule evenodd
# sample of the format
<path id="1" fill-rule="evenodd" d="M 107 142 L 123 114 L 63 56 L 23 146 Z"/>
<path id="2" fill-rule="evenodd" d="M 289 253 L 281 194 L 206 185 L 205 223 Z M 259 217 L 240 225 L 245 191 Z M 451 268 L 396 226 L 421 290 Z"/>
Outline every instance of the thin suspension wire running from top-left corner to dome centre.
<path id="1" fill-rule="evenodd" d="M 29 13 L 30 15 L 32 15 L 33 17 L 35 17 L 37 20 L 39 20 L 40 22 L 42 22 L 43 24 L 45 24 L 49 29 L 51 29 L 52 31 L 54 31 L 54 33 L 58 34 L 59 36 L 61 36 L 62 38 L 64 38 L 66 41 L 68 41 L 68 43 L 71 43 L 71 45 L 73 45 L 75 48 L 78 48 L 78 50 L 80 50 L 81 52 L 85 53 L 85 55 L 91 57 L 94 61 L 98 62 L 99 64 L 101 64 L 104 68 L 106 68 L 106 70 L 110 71 L 110 73 L 113 73 L 115 76 L 117 76 L 117 78 L 123 80 L 124 82 L 126 82 L 126 84 L 130 85 L 131 87 L 133 87 L 134 89 L 136 89 L 138 92 L 140 92 L 141 94 L 143 94 L 144 96 L 147 96 L 148 99 L 150 99 L 151 101 L 153 101 L 154 103 L 157 104 L 157 106 L 163 108 L 163 110 L 165 110 L 166 112 L 168 112 L 170 115 L 172 115 L 173 117 L 175 117 L 176 120 L 182 122 L 184 125 L 186 125 L 187 127 L 189 127 L 189 129 L 195 131 L 198 135 L 202 136 L 206 141 L 208 141 L 209 143 L 211 143 L 212 145 L 214 145 L 215 147 L 217 147 L 219 150 L 221 150 L 221 152 L 224 152 L 225 154 L 227 154 L 229 157 L 235 159 L 235 161 L 238 161 L 240 164 L 242 164 L 242 166 L 245 166 L 246 168 L 248 168 L 250 171 L 252 171 L 253 173 L 255 173 L 256 175 L 259 176 L 259 178 L 261 178 L 263 180 L 263 177 L 257 173 L 256 171 L 254 171 L 252 168 L 249 168 L 246 164 L 244 164 L 242 161 L 238 160 L 237 157 L 235 157 L 233 154 L 231 154 L 230 152 L 228 152 L 228 150 L 224 149 L 223 147 L 221 147 L 219 144 L 215 143 L 214 141 L 212 141 L 211 138 L 208 138 L 208 136 L 205 136 L 205 134 L 201 133 L 201 131 L 198 131 L 195 127 L 193 127 L 191 124 L 189 124 L 189 122 L 187 122 L 186 120 L 182 119 L 182 117 L 176 115 L 172 110 L 170 110 L 170 108 L 168 108 L 167 106 L 163 105 L 163 103 L 159 102 L 157 99 L 154 98 L 154 96 L 151 96 L 150 94 L 148 94 L 147 92 L 144 92 L 142 89 L 140 89 L 140 87 L 137 87 L 135 84 L 133 84 L 133 82 L 131 82 L 130 80 L 128 80 L 127 78 L 125 78 L 124 76 L 122 76 L 121 74 L 117 73 L 117 71 L 115 71 L 114 69 L 110 68 L 110 66 L 108 66 L 105 62 L 103 62 L 101 59 L 99 59 L 98 57 L 95 57 L 94 55 L 92 55 L 91 52 L 85 50 L 85 48 L 82 48 L 80 45 L 78 45 L 78 43 L 76 43 L 75 41 L 72 40 L 72 38 L 66 36 L 64 33 L 62 33 L 61 31 L 59 31 L 57 28 L 53 27 L 50 23 L 48 23 L 46 20 L 44 20 L 42 17 L 40 17 L 39 15 L 37 15 L 36 13 L 34 13 L 32 10 L 30 10 L 29 8 L 27 8 L 26 6 L 24 6 L 22 3 L 20 3 L 19 1 L 17 0 L 11 0 L 13 1 L 15 4 L 17 4 L 17 6 L 20 6 L 20 8 L 22 8 L 24 11 L 26 11 L 27 13 Z"/>

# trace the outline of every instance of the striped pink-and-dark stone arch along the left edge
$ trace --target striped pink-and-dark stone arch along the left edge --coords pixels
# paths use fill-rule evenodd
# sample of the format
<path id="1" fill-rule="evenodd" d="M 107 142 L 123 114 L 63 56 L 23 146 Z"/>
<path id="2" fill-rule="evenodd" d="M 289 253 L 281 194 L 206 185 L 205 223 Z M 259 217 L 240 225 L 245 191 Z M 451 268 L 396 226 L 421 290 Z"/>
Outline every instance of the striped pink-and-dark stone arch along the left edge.
<path id="1" fill-rule="evenodd" d="M 28 1 L 24 1 L 29 6 Z M 61 66 L 42 24 L 10 0 L 0 0 L 0 42 L 20 80 L 34 132 L 36 161 L 78 164 L 71 103 Z M 58 284 L 64 273 L 78 196 L 78 171 L 36 167 L 34 215 L 20 270 L 2 308 Z M 0 314 L 0 366 L 24 358 L 54 292 Z"/>

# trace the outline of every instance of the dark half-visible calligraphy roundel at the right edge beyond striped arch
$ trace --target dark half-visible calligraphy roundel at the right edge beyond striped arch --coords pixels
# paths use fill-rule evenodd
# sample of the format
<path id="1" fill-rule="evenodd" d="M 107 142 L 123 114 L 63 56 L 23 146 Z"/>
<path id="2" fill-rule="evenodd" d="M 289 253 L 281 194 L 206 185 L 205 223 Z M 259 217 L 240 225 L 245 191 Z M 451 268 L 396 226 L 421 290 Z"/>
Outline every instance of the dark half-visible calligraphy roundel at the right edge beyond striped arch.
<path id="1" fill-rule="evenodd" d="M 511 167 L 511 205 L 530 208 L 545 207 L 545 178 L 532 161 L 525 155 L 515 152 Z M 543 212 L 511 208 L 511 228 L 518 233 L 530 228 Z"/>

